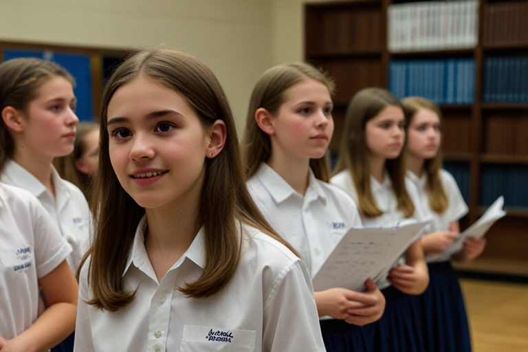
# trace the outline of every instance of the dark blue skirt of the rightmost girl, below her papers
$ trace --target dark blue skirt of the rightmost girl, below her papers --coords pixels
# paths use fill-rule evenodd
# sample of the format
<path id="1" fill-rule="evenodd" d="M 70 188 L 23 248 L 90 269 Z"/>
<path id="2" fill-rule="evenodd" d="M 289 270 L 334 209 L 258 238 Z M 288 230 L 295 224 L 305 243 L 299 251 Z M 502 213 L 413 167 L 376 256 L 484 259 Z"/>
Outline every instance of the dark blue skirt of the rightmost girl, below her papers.
<path id="1" fill-rule="evenodd" d="M 428 263 L 429 286 L 421 295 L 424 333 L 431 352 L 471 352 L 459 278 L 449 261 Z"/>

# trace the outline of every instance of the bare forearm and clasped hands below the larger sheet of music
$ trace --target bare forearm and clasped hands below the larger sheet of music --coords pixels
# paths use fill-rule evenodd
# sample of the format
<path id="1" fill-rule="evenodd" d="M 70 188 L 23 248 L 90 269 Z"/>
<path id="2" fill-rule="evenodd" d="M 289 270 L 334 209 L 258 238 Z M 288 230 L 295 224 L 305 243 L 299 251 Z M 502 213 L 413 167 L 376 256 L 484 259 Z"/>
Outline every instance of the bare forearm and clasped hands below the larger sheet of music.
<path id="1" fill-rule="evenodd" d="M 340 287 L 315 293 L 319 316 L 331 316 L 353 325 L 366 325 L 379 320 L 385 310 L 385 297 L 369 278 L 366 292 Z"/>

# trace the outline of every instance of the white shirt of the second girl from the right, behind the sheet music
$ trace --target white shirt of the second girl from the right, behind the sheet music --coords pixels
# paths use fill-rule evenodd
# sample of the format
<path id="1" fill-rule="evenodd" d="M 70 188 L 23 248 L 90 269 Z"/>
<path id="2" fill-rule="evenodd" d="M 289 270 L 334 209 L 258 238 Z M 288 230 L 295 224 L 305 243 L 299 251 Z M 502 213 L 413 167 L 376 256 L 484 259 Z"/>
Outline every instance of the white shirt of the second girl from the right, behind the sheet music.
<path id="1" fill-rule="evenodd" d="M 358 192 L 355 190 L 349 170 L 342 170 L 340 173 L 330 179 L 330 183 L 335 184 L 347 192 L 347 194 L 350 195 L 356 203 L 358 202 Z M 412 186 L 407 178 L 405 180 L 405 184 L 408 195 L 412 200 L 412 203 L 415 205 L 415 214 L 413 214 L 411 219 L 416 219 L 417 221 L 425 220 L 426 217 L 421 210 L 421 206 L 419 206 L 419 198 L 416 188 Z M 405 219 L 404 213 L 401 212 L 401 210 L 398 210 L 398 201 L 393 190 L 393 182 L 391 180 L 391 176 L 388 175 L 387 172 L 385 172 L 383 184 L 380 184 L 380 182 L 378 182 L 377 179 L 371 175 L 371 190 L 376 201 L 376 205 L 378 208 L 380 208 L 380 210 L 382 210 L 383 214 L 379 217 L 365 217 L 364 215 L 361 215 L 361 220 L 365 227 L 376 228 L 395 226 L 399 221 L 401 221 L 401 219 Z M 380 289 L 384 289 L 391 284 L 386 280 L 386 278 L 379 278 L 376 281 L 376 285 L 380 287 Z"/>

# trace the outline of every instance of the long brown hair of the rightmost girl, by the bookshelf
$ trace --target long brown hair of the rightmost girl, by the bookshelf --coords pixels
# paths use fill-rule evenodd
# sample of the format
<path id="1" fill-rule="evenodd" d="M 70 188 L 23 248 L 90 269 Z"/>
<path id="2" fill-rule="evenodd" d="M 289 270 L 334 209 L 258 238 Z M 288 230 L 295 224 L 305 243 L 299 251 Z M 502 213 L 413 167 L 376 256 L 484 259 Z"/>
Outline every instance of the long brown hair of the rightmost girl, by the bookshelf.
<path id="1" fill-rule="evenodd" d="M 417 96 L 412 96 L 401 100 L 401 105 L 404 107 L 406 128 L 408 129 L 412 118 L 418 113 L 418 111 L 427 109 L 436 113 L 442 121 L 442 113 L 434 102 Z M 429 192 L 429 206 L 431 210 L 438 214 L 443 214 L 445 210 L 448 210 L 449 200 L 445 194 L 445 188 L 440 178 L 440 169 L 442 167 L 442 149 L 441 146 L 438 149 L 437 155 L 432 159 L 426 159 L 423 163 L 423 170 L 426 171 L 427 184 L 426 190 Z"/>

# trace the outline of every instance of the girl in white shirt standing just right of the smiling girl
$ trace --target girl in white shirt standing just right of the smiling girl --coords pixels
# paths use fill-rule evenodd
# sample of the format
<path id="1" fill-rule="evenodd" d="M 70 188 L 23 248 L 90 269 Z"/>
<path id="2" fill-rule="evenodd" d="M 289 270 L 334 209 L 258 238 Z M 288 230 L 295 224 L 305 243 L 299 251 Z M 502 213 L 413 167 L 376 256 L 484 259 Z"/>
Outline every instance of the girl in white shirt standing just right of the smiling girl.
<path id="1" fill-rule="evenodd" d="M 332 93 L 332 81 L 311 65 L 268 69 L 253 89 L 242 142 L 254 200 L 299 250 L 312 277 L 347 230 L 361 226 L 352 199 L 328 183 Z M 365 286 L 365 292 L 315 293 L 328 351 L 371 350 L 368 326 L 382 316 L 385 299 L 371 279 Z"/>

